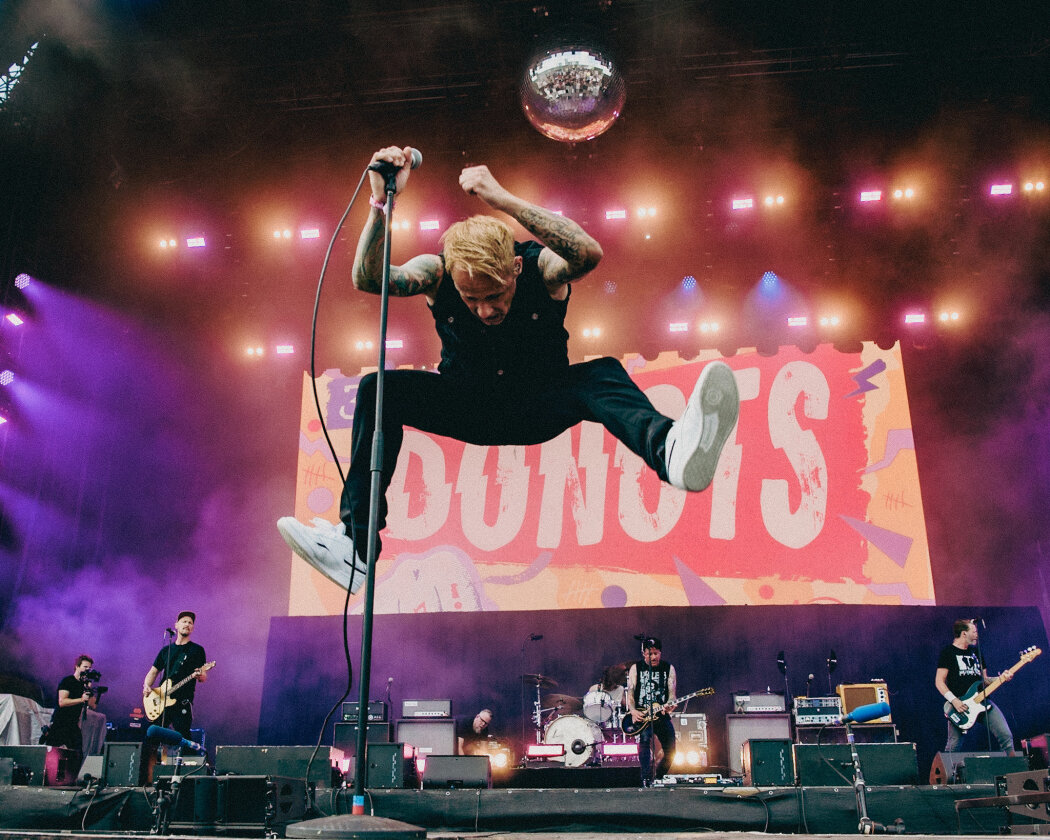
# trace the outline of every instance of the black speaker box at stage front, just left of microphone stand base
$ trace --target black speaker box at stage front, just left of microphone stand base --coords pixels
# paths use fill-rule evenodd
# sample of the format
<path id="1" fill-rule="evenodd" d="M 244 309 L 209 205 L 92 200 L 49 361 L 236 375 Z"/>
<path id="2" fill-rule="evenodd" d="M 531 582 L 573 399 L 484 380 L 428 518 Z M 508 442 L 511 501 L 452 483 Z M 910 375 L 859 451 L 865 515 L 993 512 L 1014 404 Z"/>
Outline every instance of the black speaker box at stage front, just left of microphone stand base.
<path id="1" fill-rule="evenodd" d="M 261 830 L 265 837 L 282 837 L 285 832 L 280 826 L 298 822 L 307 813 L 307 783 L 302 777 L 217 776 L 216 779 L 215 833 L 219 836 Z"/>

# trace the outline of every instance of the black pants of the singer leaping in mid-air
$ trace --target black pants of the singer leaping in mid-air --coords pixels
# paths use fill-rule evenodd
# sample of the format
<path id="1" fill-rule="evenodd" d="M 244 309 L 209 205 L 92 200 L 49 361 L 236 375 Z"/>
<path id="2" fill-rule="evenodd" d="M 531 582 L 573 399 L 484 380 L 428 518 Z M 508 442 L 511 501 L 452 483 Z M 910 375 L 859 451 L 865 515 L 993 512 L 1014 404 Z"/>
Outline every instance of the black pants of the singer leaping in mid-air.
<path id="1" fill-rule="evenodd" d="M 379 529 L 386 525 L 386 488 L 397 466 L 404 426 L 481 446 L 543 443 L 583 420 L 613 437 L 667 481 L 664 441 L 672 421 L 610 357 L 572 364 L 550 381 L 474 380 L 426 371 L 387 371 L 383 380 L 382 498 Z M 361 379 L 354 410 L 350 469 L 339 516 L 361 558 L 369 531 L 372 438 L 376 423 L 376 374 Z"/>

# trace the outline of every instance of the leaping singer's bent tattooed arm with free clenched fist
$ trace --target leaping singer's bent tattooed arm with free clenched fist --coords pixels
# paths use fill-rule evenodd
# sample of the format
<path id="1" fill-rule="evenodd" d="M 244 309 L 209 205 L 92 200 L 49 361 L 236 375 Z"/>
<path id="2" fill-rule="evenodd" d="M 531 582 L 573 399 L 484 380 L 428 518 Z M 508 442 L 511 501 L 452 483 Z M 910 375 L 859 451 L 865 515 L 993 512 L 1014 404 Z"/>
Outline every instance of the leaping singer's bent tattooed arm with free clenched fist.
<path id="1" fill-rule="evenodd" d="M 492 177 L 487 166 L 464 169 L 460 186 L 495 210 L 512 216 L 546 246 L 540 253 L 540 271 L 551 295 L 564 297 L 568 293 L 566 284 L 579 280 L 602 259 L 602 246 L 575 222 L 508 192 Z"/>

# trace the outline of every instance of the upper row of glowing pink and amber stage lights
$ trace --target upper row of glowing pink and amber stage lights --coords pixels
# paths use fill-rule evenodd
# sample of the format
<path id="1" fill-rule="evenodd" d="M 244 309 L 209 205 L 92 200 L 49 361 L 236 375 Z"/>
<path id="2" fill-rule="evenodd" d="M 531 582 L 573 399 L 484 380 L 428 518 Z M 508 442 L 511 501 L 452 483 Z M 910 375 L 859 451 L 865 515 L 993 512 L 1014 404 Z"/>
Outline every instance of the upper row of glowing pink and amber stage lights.
<path id="1" fill-rule="evenodd" d="M 1046 182 L 1026 181 L 1023 184 L 1002 182 L 991 184 L 988 187 L 989 197 L 995 200 L 1009 198 L 1016 196 L 1018 193 L 1031 197 L 1042 197 L 1046 194 Z M 857 203 L 869 206 L 887 200 L 892 202 L 911 202 L 919 196 L 920 191 L 916 187 L 895 187 L 891 189 L 873 187 L 861 190 L 857 195 Z M 770 193 L 761 198 L 754 195 L 738 195 L 730 198 L 729 209 L 735 213 L 743 213 L 760 207 L 771 210 L 778 209 L 789 204 L 790 202 L 783 193 Z M 559 215 L 563 213 L 562 210 L 554 210 L 553 212 Z M 638 207 L 634 211 L 634 215 L 642 220 L 653 219 L 658 214 L 659 211 L 656 207 Z M 624 207 L 605 211 L 606 222 L 626 222 L 630 215 L 631 213 Z M 441 220 L 437 218 L 423 218 L 417 224 L 421 233 L 435 233 L 442 228 Z M 413 227 L 413 223 L 406 219 L 391 220 L 391 228 L 395 231 L 411 231 Z M 278 243 L 289 243 L 293 239 L 311 242 L 321 238 L 321 229 L 313 225 L 301 227 L 297 231 L 293 231 L 291 228 L 276 228 L 272 232 L 272 237 Z M 161 238 L 158 240 L 158 248 L 162 251 L 175 250 L 180 248 L 181 242 L 186 248 L 206 248 L 208 245 L 207 237 L 204 234 L 197 233 L 192 236 L 186 236 L 182 240 L 170 236 Z"/>

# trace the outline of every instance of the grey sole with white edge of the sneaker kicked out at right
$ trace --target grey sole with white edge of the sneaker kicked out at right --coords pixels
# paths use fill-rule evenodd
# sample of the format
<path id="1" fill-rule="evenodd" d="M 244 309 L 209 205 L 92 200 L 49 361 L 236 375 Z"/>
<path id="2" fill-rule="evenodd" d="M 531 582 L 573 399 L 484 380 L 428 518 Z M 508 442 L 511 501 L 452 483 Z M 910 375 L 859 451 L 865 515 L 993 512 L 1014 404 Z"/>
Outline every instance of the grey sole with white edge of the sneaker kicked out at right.
<path id="1" fill-rule="evenodd" d="M 722 446 L 733 432 L 740 414 L 740 396 L 733 369 L 721 361 L 711 362 L 696 382 L 686 411 L 696 406 L 704 422 L 693 432 L 691 440 L 676 441 L 689 457 L 681 470 L 681 484 L 687 490 L 705 490 L 715 477 Z"/>

